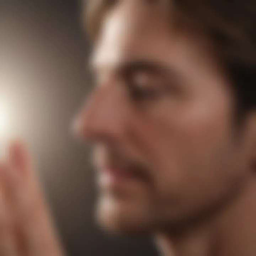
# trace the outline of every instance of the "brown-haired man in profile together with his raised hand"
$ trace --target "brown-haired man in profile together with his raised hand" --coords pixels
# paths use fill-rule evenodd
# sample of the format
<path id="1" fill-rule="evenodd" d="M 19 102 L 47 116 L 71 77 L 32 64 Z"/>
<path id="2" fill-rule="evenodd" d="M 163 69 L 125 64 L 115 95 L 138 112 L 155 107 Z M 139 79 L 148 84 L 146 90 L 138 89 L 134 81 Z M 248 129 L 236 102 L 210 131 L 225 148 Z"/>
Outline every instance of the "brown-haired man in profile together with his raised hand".
<path id="1" fill-rule="evenodd" d="M 88 4 L 96 80 L 74 128 L 95 147 L 98 222 L 165 256 L 256 255 L 255 2 Z M 22 145 L 0 169 L 6 209 L 34 213 L 32 233 L 0 229 L 1 255 L 60 255 Z"/>

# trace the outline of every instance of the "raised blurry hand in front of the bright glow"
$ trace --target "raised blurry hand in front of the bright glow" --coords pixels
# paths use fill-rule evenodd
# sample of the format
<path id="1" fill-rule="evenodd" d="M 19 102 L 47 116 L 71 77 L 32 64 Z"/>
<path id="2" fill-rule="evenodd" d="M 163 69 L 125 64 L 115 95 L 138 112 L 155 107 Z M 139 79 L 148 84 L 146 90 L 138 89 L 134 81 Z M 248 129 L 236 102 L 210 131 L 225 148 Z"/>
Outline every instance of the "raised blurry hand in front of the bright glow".
<path id="1" fill-rule="evenodd" d="M 0 161 L 0 256 L 62 256 L 30 156 L 20 142 Z"/>

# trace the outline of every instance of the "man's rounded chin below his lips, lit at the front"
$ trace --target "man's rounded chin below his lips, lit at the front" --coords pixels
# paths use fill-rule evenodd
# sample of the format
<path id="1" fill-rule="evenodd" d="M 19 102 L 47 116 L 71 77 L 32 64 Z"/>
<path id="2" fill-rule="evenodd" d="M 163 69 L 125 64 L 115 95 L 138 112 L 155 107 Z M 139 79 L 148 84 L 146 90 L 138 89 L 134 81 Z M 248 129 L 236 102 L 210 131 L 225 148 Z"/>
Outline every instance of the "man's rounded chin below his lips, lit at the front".
<path id="1" fill-rule="evenodd" d="M 101 197 L 96 207 L 96 223 L 109 233 L 142 235 L 151 231 L 149 207 L 144 203 Z"/>

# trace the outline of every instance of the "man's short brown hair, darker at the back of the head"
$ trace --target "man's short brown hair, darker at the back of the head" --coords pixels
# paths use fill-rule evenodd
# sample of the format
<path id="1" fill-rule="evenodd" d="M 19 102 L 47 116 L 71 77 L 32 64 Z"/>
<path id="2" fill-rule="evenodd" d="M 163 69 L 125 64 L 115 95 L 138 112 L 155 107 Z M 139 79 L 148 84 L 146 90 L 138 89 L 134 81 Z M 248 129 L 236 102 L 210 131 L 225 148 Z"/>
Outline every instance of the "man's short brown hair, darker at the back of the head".
<path id="1" fill-rule="evenodd" d="M 164 0 L 154 1 L 164 2 Z M 95 37 L 104 15 L 118 1 L 87 0 L 86 2 L 87 31 Z M 239 116 L 255 110 L 256 1 L 165 0 L 165 3 L 172 8 L 172 13 L 176 11 L 182 14 L 183 17 L 203 27 L 208 34 L 235 89 Z"/>

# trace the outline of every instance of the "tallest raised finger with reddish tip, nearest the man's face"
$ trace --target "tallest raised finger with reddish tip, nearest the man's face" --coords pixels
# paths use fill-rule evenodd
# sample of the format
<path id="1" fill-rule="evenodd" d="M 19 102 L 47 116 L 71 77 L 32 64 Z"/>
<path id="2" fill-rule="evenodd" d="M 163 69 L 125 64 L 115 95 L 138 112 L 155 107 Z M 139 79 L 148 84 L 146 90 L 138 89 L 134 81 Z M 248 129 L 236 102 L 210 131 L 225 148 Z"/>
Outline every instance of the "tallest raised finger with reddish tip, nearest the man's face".
<path id="1" fill-rule="evenodd" d="M 9 148 L 11 168 L 6 175 L 12 211 L 19 225 L 26 256 L 57 254 L 58 242 L 43 194 L 32 169 L 30 155 L 21 142 Z M 32 177 L 28 178 L 28 177 Z M 43 254 L 42 254 L 43 253 Z"/>

